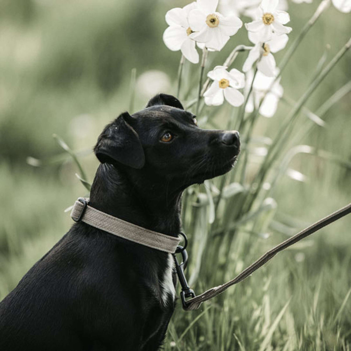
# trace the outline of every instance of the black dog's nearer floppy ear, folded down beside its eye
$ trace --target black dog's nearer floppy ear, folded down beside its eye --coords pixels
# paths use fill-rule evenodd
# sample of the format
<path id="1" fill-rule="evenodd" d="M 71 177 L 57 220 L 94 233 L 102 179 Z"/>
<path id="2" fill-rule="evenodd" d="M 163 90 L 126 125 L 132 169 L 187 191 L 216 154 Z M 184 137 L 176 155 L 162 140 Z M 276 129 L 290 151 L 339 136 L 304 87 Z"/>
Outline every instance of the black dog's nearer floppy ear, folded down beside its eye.
<path id="1" fill-rule="evenodd" d="M 143 146 L 138 134 L 128 124 L 128 119 L 132 119 L 129 113 L 122 113 L 100 134 L 94 152 L 101 163 L 117 161 L 132 168 L 143 168 Z"/>

